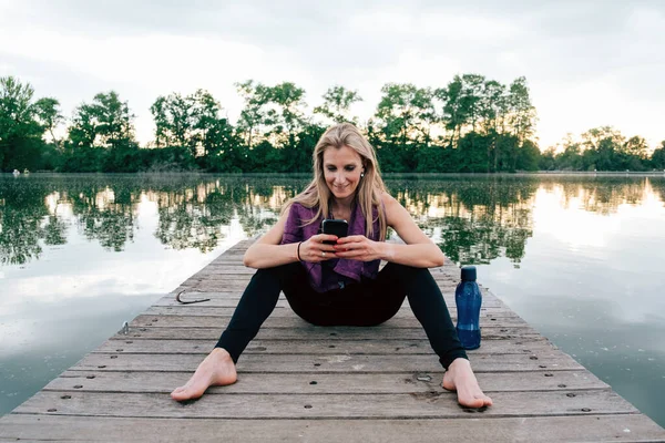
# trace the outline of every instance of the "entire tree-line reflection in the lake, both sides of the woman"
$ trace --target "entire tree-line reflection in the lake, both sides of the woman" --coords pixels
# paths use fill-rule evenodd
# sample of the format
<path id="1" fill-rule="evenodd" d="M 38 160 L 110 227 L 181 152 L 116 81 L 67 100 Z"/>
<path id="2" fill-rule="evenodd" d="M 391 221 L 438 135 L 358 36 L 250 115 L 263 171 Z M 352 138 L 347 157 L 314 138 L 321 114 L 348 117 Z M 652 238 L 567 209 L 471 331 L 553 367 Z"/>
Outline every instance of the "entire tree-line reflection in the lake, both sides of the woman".
<path id="1" fill-rule="evenodd" d="M 139 203 L 157 207 L 154 233 L 174 249 L 207 251 L 236 219 L 248 236 L 276 223 L 284 203 L 307 178 L 209 175 L 34 176 L 0 178 L 0 262 L 39 258 L 43 245 L 63 245 L 70 225 L 90 240 L 122 250 L 135 235 Z M 519 264 L 532 235 L 535 190 L 561 195 L 562 205 L 611 214 L 621 204 L 665 195 L 658 177 L 538 177 L 389 179 L 391 194 L 446 255 L 462 264 L 505 256 Z M 60 206 L 62 205 L 62 206 Z M 58 207 L 70 207 L 72 219 Z M 235 223 L 235 222 L 234 222 Z"/>

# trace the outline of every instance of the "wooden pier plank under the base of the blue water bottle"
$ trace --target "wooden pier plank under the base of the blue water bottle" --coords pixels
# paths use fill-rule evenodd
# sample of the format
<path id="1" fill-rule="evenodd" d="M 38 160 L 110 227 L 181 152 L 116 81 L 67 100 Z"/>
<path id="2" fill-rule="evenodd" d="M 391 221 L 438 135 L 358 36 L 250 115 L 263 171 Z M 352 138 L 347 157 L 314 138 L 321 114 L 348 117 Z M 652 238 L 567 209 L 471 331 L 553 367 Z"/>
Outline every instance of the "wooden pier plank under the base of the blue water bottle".
<path id="1" fill-rule="evenodd" d="M 100 346 L 94 352 L 104 353 L 194 353 L 209 352 L 217 340 L 124 340 L 112 339 Z M 555 349 L 543 338 L 535 340 L 485 340 L 481 347 L 468 351 L 470 356 L 481 353 L 534 353 L 550 352 Z M 340 340 L 334 344 L 323 340 L 304 340 L 294 346 L 287 340 L 253 340 L 244 353 L 360 353 L 360 354 L 431 354 L 428 340 Z"/>

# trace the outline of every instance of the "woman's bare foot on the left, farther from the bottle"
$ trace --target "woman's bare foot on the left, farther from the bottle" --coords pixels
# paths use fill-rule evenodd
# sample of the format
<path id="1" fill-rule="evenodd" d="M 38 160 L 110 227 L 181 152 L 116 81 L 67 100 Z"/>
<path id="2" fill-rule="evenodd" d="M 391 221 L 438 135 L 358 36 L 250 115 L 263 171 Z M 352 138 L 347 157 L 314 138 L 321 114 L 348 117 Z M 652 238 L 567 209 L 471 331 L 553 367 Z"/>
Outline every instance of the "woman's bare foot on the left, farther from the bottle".
<path id="1" fill-rule="evenodd" d="M 183 401 L 198 399 L 208 387 L 224 387 L 237 380 L 235 364 L 225 349 L 215 348 L 198 364 L 196 372 L 184 387 L 176 388 L 172 393 L 173 400 Z"/>

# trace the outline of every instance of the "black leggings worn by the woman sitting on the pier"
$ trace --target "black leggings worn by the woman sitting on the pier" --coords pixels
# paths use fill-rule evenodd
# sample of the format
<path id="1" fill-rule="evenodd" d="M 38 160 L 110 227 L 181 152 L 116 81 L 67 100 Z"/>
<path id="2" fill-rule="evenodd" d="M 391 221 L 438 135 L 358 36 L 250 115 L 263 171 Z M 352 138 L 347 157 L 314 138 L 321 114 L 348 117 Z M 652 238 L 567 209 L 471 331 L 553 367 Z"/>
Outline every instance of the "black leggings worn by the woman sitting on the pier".
<path id="1" fill-rule="evenodd" d="M 275 309 L 284 291 L 291 309 L 317 326 L 376 326 L 392 318 L 405 297 L 424 328 L 443 368 L 467 358 L 439 286 L 428 269 L 389 262 L 376 280 L 362 279 L 344 289 L 317 292 L 309 286 L 299 262 L 259 269 L 222 333 L 216 348 L 224 348 L 234 362 Z"/>

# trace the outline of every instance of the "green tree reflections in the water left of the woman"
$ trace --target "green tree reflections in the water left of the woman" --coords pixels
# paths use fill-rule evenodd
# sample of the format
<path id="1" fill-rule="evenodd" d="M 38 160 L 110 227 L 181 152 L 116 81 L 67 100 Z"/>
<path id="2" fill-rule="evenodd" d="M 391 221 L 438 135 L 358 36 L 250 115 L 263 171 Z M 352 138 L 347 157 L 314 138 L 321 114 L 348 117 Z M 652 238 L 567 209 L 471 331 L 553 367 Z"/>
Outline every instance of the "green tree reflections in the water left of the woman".
<path id="1" fill-rule="evenodd" d="M 43 245 L 66 243 L 70 220 L 58 206 L 71 208 L 73 224 L 89 240 L 112 250 L 132 241 L 142 196 L 157 205 L 156 238 L 175 248 L 207 251 L 225 236 L 233 217 L 249 236 L 276 220 L 303 181 L 211 176 L 35 176 L 0 182 L 0 262 L 39 258 Z M 50 204 L 49 204 L 50 202 Z M 51 207 L 50 207 L 51 206 Z"/>

